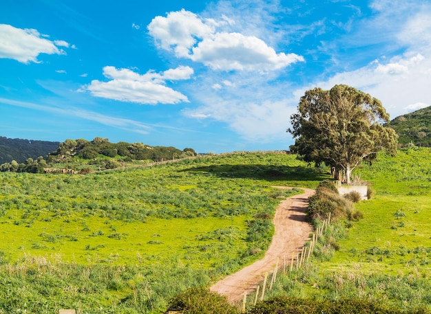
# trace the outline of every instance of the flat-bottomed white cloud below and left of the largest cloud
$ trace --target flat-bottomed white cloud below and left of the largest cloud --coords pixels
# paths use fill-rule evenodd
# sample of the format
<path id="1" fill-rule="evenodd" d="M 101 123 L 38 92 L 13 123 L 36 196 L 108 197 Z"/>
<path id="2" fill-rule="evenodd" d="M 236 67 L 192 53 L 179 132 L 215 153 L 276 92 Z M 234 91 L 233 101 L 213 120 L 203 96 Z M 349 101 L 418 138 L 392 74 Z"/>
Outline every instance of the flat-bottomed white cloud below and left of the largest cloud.
<path id="1" fill-rule="evenodd" d="M 191 67 L 177 67 L 164 72 L 148 71 L 140 75 L 130 69 L 104 67 L 103 75 L 107 82 L 92 80 L 81 91 L 90 91 L 93 96 L 136 102 L 138 104 L 177 104 L 188 102 L 187 96 L 165 86 L 166 80 L 187 80 L 193 74 Z"/>

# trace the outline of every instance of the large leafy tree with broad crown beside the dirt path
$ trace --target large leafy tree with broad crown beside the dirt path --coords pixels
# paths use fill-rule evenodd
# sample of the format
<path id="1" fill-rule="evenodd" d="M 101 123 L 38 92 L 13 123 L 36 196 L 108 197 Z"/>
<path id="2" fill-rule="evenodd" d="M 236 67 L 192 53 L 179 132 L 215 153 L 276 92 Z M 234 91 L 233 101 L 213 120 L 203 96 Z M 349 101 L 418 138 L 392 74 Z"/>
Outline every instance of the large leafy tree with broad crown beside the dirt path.
<path id="1" fill-rule="evenodd" d="M 397 152 L 398 136 L 386 122 L 388 113 L 368 93 L 347 85 L 317 87 L 306 91 L 291 116 L 291 150 L 304 161 L 330 166 L 336 179 L 350 184 L 361 161 L 372 161 L 381 150 Z"/>

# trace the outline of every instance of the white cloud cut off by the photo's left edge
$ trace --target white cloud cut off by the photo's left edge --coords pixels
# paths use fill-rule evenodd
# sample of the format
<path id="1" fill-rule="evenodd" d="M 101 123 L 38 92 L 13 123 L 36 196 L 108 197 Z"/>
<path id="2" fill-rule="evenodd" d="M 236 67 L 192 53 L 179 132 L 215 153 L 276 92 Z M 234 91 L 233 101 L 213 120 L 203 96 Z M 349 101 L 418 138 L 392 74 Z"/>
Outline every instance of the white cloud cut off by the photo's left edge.
<path id="1" fill-rule="evenodd" d="M 0 24 L 0 58 L 10 58 L 21 63 L 38 63 L 39 54 L 65 54 L 57 47 L 69 47 L 65 41 L 49 41 L 41 38 L 33 29 L 21 29 Z"/>

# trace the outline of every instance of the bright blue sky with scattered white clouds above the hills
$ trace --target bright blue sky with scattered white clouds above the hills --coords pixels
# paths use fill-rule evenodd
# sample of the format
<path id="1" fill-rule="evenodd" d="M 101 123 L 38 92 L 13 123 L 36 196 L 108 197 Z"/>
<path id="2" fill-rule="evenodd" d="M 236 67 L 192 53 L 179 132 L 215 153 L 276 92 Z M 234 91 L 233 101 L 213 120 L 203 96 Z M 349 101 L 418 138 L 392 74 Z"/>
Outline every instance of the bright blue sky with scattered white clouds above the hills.
<path id="1" fill-rule="evenodd" d="M 0 3 L 0 136 L 285 150 L 299 98 L 347 84 L 431 105 L 431 2 Z"/>

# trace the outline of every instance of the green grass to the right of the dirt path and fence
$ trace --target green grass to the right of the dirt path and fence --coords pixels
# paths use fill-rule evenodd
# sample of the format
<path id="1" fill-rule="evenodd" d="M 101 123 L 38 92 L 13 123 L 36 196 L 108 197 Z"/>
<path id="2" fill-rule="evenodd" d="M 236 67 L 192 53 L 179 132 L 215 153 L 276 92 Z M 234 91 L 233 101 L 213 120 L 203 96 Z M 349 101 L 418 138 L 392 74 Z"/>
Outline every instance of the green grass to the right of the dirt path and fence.
<path id="1" fill-rule="evenodd" d="M 270 295 L 361 298 L 400 313 L 431 311 L 430 160 L 429 148 L 409 148 L 357 169 L 376 192 L 374 199 L 355 204 L 364 218 L 333 223 L 311 262 L 280 276 Z M 346 227 L 347 236 L 331 248 L 336 226 Z"/>

